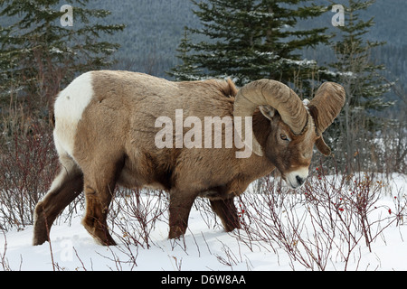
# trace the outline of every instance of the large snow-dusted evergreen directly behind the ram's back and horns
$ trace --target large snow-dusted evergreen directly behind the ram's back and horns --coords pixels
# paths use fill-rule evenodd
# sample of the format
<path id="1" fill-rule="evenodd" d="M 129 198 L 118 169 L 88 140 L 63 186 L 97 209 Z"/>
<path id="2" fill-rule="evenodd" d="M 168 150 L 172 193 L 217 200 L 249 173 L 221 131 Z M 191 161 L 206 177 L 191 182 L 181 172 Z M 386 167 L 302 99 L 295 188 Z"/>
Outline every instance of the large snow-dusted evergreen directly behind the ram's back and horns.
<path id="1" fill-rule="evenodd" d="M 299 19 L 326 12 L 317 5 L 300 6 L 308 0 L 192 1 L 203 28 L 189 30 L 206 37 L 187 42 L 188 65 L 200 69 L 194 77 L 232 77 L 238 85 L 261 78 L 302 81 L 316 62 L 302 60 L 299 51 L 329 38 L 326 28 L 296 27 Z"/>

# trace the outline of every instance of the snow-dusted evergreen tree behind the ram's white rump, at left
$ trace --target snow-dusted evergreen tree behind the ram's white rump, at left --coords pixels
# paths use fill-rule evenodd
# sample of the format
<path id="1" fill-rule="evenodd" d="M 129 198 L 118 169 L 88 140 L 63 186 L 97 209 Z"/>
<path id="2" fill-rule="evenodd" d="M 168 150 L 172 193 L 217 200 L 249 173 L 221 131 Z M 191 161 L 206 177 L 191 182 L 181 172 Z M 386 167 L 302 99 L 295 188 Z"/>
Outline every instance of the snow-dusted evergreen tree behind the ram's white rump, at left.
<path id="1" fill-rule="evenodd" d="M 112 63 L 118 44 L 99 38 L 122 31 L 124 25 L 102 24 L 109 11 L 86 9 L 87 3 L 64 1 L 73 7 L 70 27 L 62 26 L 67 11 L 61 12 L 59 0 L 2 1 L 0 17 L 13 24 L 0 27 L 1 98 L 24 99 L 30 111 L 38 112 L 74 75 Z M 99 23 L 90 24 L 91 17 Z"/>

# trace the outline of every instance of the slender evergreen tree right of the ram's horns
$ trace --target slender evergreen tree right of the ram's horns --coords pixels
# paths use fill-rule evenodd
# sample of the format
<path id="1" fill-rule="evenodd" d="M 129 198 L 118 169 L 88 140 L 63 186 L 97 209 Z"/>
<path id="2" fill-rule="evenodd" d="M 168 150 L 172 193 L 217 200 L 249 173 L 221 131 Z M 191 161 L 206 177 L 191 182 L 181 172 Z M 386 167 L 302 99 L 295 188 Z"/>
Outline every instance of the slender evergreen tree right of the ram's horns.
<path id="1" fill-rule="evenodd" d="M 336 53 L 336 62 L 330 65 L 327 79 L 342 84 L 346 91 L 345 107 L 338 117 L 336 126 L 332 126 L 333 145 L 342 146 L 347 155 L 347 163 L 352 164 L 354 155 L 362 154 L 374 132 L 382 128 L 378 112 L 391 107 L 392 102 L 385 100 L 385 93 L 392 88 L 381 72 L 383 65 L 374 63 L 372 50 L 384 42 L 370 42 L 366 33 L 374 26 L 374 17 L 360 19 L 360 12 L 373 5 L 375 0 L 347 0 L 345 7 L 345 25 L 337 26 L 336 41 L 332 43 Z M 339 142 L 339 135 L 341 138 Z M 369 152 L 367 152 L 369 154 Z M 366 156 L 368 157 L 368 156 Z"/>

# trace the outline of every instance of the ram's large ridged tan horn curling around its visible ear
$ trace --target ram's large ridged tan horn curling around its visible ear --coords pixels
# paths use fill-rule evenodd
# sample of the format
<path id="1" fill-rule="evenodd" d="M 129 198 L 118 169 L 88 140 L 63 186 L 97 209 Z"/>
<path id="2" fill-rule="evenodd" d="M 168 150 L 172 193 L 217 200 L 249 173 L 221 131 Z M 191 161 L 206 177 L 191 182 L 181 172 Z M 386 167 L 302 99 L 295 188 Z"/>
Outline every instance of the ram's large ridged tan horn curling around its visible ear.
<path id="1" fill-rule="evenodd" d="M 291 128 L 294 135 L 300 135 L 308 124 L 308 113 L 298 95 L 285 84 L 270 79 L 253 81 L 241 88 L 236 95 L 233 109 L 234 117 L 252 117 L 259 106 L 275 108 L 281 119 Z M 243 120 L 242 120 L 243 122 Z M 244 126 L 241 138 L 254 154 L 263 155 L 261 145 L 252 135 L 252 144 L 245 139 Z"/>

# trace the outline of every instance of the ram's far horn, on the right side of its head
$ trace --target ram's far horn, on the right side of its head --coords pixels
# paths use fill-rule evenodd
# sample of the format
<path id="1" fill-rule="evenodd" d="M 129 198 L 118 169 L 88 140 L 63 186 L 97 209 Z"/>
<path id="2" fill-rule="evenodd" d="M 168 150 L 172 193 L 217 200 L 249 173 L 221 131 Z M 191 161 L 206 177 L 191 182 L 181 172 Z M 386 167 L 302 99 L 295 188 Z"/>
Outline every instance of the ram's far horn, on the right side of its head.
<path id="1" fill-rule="evenodd" d="M 334 122 L 342 107 L 344 107 L 345 96 L 345 89 L 341 85 L 335 82 L 325 82 L 308 104 L 308 110 L 314 119 L 317 135 L 320 136 L 315 144 L 322 154 L 331 154 L 331 149 L 325 143 L 322 133 Z"/>

